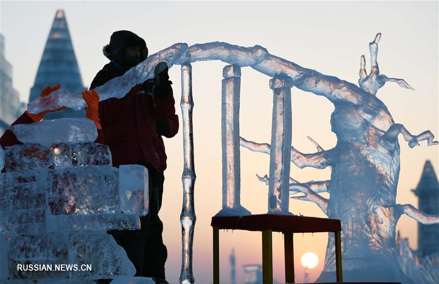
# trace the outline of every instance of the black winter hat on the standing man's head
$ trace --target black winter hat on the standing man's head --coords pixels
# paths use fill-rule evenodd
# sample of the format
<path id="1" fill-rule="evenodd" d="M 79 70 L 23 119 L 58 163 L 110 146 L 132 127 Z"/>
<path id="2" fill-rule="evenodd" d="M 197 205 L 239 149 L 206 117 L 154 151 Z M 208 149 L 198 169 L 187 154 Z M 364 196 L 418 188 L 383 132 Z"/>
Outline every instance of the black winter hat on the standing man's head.
<path id="1" fill-rule="evenodd" d="M 141 50 L 140 61 L 144 61 L 148 56 L 148 48 L 146 47 L 145 41 L 130 31 L 116 31 L 110 37 L 110 44 L 104 46 L 102 51 L 104 55 L 109 60 L 117 59 L 119 54 L 124 50 L 125 47 L 139 46 Z"/>

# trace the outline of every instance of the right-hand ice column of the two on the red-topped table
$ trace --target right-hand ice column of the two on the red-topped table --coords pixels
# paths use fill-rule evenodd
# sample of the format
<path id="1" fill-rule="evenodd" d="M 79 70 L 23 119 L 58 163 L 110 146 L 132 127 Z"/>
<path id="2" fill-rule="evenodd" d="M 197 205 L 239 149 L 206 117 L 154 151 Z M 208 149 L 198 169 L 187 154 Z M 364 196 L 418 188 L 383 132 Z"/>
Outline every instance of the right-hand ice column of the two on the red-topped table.
<path id="1" fill-rule="evenodd" d="M 272 143 L 270 150 L 270 181 L 268 212 L 288 214 L 291 158 L 291 87 L 293 79 L 275 76 L 270 80 L 273 90 Z"/>

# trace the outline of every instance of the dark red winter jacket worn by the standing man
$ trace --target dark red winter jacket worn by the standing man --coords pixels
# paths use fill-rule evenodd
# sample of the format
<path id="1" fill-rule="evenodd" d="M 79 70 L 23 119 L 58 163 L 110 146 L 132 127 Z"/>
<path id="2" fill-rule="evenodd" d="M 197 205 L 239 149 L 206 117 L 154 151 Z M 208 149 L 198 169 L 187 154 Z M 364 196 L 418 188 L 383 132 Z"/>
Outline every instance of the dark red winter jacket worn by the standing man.
<path id="1" fill-rule="evenodd" d="M 96 74 L 90 89 L 123 74 L 123 70 L 110 62 Z M 147 80 L 145 84 L 143 89 L 149 90 L 155 81 Z M 172 91 L 161 99 L 134 95 L 128 104 L 117 98 L 101 101 L 99 116 L 113 166 L 146 162 L 155 169 L 165 170 L 167 156 L 162 135 L 170 138 L 178 132 L 174 105 Z"/>

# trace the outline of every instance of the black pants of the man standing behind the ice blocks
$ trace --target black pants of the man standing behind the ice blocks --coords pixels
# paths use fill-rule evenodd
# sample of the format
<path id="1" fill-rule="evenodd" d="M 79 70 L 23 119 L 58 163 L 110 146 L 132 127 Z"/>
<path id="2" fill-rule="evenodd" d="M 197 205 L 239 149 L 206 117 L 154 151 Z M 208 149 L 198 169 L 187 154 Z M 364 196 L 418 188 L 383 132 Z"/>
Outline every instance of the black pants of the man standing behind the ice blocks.
<path id="1" fill-rule="evenodd" d="M 145 217 L 140 217 L 140 230 L 111 230 L 116 242 L 122 246 L 128 259 L 136 268 L 135 276 L 165 278 L 165 262 L 167 249 L 163 244 L 163 223 L 158 213 L 162 206 L 163 171 L 149 166 L 149 210 Z"/>

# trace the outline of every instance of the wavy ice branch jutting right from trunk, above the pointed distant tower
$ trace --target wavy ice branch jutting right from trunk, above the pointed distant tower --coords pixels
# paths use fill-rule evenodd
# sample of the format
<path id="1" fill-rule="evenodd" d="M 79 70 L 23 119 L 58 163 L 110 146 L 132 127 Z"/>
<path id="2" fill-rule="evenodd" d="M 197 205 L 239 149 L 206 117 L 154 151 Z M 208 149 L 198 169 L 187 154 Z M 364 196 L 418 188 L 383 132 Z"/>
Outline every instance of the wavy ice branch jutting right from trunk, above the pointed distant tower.
<path id="1" fill-rule="evenodd" d="M 435 135 L 429 130 L 424 131 L 418 135 L 412 135 L 402 124 L 392 125 L 386 133 L 381 137 L 381 144 L 384 146 L 392 143 L 396 143 L 397 136 L 402 133 L 404 140 L 409 142 L 409 147 L 413 148 L 419 145 L 419 141 L 427 140 L 427 145 L 438 145 L 438 141 L 434 141 Z"/>

